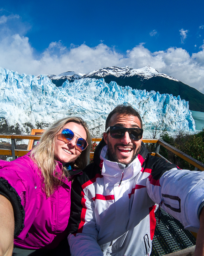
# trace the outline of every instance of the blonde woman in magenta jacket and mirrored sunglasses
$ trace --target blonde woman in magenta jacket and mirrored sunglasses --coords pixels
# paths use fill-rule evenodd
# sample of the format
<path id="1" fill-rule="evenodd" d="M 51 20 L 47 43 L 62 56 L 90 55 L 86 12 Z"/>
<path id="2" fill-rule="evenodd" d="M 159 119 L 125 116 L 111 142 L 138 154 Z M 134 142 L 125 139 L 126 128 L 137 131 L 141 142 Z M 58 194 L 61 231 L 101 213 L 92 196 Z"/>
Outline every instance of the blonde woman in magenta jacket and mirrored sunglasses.
<path id="1" fill-rule="evenodd" d="M 12 162 L 0 160 L 0 220 L 7 232 L 0 230 L 4 234 L 0 255 L 1 250 L 2 255 L 12 253 L 13 219 L 13 255 L 54 252 L 51 249 L 67 236 L 71 179 L 86 166 L 90 146 L 87 124 L 79 117 L 69 117 L 50 126 L 27 155 Z"/>

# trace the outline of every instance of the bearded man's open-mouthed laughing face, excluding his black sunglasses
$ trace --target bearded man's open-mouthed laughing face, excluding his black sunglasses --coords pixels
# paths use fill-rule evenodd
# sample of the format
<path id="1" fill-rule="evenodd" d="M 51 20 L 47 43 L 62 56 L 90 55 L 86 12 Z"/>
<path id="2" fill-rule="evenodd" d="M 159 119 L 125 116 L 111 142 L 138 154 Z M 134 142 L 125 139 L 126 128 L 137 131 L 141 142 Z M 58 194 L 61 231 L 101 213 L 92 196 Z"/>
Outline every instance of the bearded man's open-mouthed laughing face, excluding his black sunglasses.
<path id="1" fill-rule="evenodd" d="M 141 128 L 140 120 L 136 116 L 124 116 L 114 114 L 109 122 L 109 126 L 121 126 L 126 128 Z M 128 165 L 138 155 L 141 148 L 140 140 L 131 140 L 128 131 L 120 139 L 114 139 L 110 135 L 110 131 L 103 134 L 104 140 L 108 145 L 109 157 L 113 162 Z"/>

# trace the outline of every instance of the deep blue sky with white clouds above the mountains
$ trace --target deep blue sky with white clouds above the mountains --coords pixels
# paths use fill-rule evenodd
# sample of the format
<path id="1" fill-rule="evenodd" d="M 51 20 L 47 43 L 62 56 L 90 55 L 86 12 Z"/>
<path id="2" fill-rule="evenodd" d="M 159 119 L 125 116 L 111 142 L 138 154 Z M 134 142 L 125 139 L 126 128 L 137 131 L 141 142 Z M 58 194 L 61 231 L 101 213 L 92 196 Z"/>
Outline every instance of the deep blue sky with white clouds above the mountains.
<path id="1" fill-rule="evenodd" d="M 204 93 L 204 1 L 0 0 L 0 67 L 151 66 Z"/>

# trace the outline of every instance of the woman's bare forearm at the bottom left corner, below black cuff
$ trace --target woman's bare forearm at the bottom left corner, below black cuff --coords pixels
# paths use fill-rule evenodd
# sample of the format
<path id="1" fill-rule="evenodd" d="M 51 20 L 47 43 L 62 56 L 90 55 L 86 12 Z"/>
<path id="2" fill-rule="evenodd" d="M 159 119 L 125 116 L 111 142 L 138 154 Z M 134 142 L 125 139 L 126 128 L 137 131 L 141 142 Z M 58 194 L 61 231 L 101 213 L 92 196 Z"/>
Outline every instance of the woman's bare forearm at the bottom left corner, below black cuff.
<path id="1" fill-rule="evenodd" d="M 13 252 L 14 214 L 10 201 L 0 195 L 0 256 Z"/>

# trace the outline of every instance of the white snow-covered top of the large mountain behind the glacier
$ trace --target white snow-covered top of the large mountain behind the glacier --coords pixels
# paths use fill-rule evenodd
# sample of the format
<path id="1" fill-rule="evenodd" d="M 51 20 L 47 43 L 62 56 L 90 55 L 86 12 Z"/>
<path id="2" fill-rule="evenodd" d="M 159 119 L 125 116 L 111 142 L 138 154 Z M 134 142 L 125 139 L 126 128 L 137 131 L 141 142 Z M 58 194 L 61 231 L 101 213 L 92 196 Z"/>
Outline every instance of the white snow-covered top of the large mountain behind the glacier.
<path id="1" fill-rule="evenodd" d="M 126 77 L 130 77 L 130 76 L 141 76 L 141 79 L 149 79 L 153 76 L 163 76 L 166 77 L 168 79 L 174 80 L 174 81 L 179 81 L 171 76 L 167 76 L 165 74 L 159 73 L 156 69 L 151 68 L 149 66 L 145 66 L 143 68 L 129 68 L 128 66 L 124 67 L 124 68 L 118 68 L 118 67 L 108 67 L 108 68 L 102 68 L 102 69 L 98 69 L 98 70 L 94 70 L 84 76 L 82 76 L 82 78 L 85 77 L 94 77 L 98 76 L 98 77 L 106 77 L 106 76 L 115 76 L 115 77 L 122 77 L 122 76 L 126 76 Z"/>

